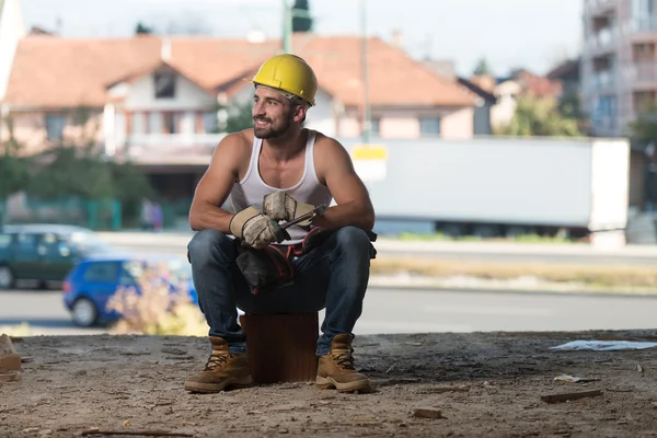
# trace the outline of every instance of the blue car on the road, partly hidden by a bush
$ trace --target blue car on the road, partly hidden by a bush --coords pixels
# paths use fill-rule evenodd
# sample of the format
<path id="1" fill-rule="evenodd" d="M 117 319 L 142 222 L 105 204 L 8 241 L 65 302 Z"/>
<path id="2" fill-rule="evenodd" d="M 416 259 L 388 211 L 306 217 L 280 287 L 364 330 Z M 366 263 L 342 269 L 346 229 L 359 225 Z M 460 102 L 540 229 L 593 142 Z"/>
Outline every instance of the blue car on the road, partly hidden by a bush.
<path id="1" fill-rule="evenodd" d="M 153 270 L 155 269 L 155 270 Z M 172 292 L 185 289 L 189 300 L 198 304 L 189 263 L 180 256 L 137 256 L 99 254 L 78 263 L 64 283 L 64 304 L 76 325 L 89 327 L 112 323 L 122 315 L 107 309 L 107 302 L 120 288 L 140 293 L 138 279 L 145 272 L 165 281 Z"/>

